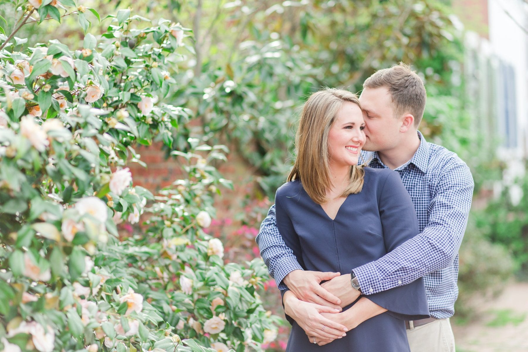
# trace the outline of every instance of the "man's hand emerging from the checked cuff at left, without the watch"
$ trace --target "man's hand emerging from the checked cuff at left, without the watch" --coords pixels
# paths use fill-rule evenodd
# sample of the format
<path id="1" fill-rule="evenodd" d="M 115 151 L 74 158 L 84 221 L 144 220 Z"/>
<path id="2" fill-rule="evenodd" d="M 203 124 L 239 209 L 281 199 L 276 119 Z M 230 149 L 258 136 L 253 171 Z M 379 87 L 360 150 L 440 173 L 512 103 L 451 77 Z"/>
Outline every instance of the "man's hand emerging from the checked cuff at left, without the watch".
<path id="1" fill-rule="evenodd" d="M 339 275 L 340 273 L 338 272 L 294 270 L 290 271 L 282 281 L 284 281 L 290 291 L 295 293 L 298 299 L 320 306 L 336 308 L 341 311 L 341 299 L 320 285 L 321 281 L 331 280 L 339 277 Z M 350 278 L 350 274 L 348 277 Z M 350 286 L 350 279 L 348 286 Z"/>

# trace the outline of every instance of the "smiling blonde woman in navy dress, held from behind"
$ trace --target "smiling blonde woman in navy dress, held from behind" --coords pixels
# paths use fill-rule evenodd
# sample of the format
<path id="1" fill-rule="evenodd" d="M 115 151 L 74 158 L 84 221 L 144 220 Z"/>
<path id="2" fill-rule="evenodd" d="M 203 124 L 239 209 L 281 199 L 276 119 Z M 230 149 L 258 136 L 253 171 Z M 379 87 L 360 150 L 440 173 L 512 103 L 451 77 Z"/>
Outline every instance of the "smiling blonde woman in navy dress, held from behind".
<path id="1" fill-rule="evenodd" d="M 417 216 L 398 173 L 357 165 L 363 129 L 359 100 L 348 91 L 316 92 L 301 112 L 297 159 L 288 182 L 277 190 L 275 206 L 279 232 L 305 270 L 348 273 L 418 233 Z M 328 326 L 307 338 L 301 326 L 313 303 L 282 293 L 292 324 L 291 352 L 409 351 L 404 320 L 429 316 L 420 279 L 361 296 L 343 312 L 326 314 Z M 363 321 L 365 310 L 371 318 Z M 346 334 L 338 329 L 343 326 Z"/>

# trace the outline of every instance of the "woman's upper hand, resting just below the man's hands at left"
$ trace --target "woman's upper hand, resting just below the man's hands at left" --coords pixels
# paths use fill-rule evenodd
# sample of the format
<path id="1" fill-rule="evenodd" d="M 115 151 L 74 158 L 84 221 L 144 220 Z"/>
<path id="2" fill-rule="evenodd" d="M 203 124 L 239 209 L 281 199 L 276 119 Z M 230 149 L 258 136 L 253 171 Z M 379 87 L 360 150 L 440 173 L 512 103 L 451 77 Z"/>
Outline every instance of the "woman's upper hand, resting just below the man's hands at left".
<path id="1" fill-rule="evenodd" d="M 285 313 L 293 318 L 312 339 L 315 337 L 318 340 L 333 341 L 346 336 L 347 328 L 344 325 L 322 315 L 323 312 L 337 313 L 339 310 L 301 301 L 291 291 L 284 294 L 283 301 Z"/>

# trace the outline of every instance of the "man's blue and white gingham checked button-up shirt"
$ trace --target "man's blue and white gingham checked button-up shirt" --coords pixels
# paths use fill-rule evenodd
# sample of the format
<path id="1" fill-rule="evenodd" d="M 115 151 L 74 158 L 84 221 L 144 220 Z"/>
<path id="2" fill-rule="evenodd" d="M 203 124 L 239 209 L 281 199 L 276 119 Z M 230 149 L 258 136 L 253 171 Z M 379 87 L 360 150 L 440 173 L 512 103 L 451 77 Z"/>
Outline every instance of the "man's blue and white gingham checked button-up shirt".
<path id="1" fill-rule="evenodd" d="M 429 143 L 418 132 L 420 146 L 408 163 L 395 169 L 418 215 L 420 233 L 382 258 L 354 270 L 364 294 L 372 294 L 423 277 L 432 317 L 451 317 L 458 296 L 458 249 L 473 196 L 473 177 L 455 153 Z M 386 168 L 378 153 L 362 152 L 369 166 Z M 260 225 L 260 254 L 279 289 L 282 279 L 300 267 L 277 229 L 275 205 Z M 345 274 L 345 273 L 342 273 Z"/>

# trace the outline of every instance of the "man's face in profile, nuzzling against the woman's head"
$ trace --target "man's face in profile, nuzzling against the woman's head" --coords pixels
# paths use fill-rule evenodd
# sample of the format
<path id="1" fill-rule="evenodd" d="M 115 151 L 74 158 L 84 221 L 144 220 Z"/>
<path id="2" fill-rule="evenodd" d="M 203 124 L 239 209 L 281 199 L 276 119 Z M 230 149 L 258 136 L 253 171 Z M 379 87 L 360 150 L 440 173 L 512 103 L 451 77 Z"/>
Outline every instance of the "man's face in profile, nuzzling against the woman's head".
<path id="1" fill-rule="evenodd" d="M 364 150 L 386 151 L 398 145 L 401 121 L 394 118 L 388 88 L 365 88 L 360 96 L 365 111 Z"/>

